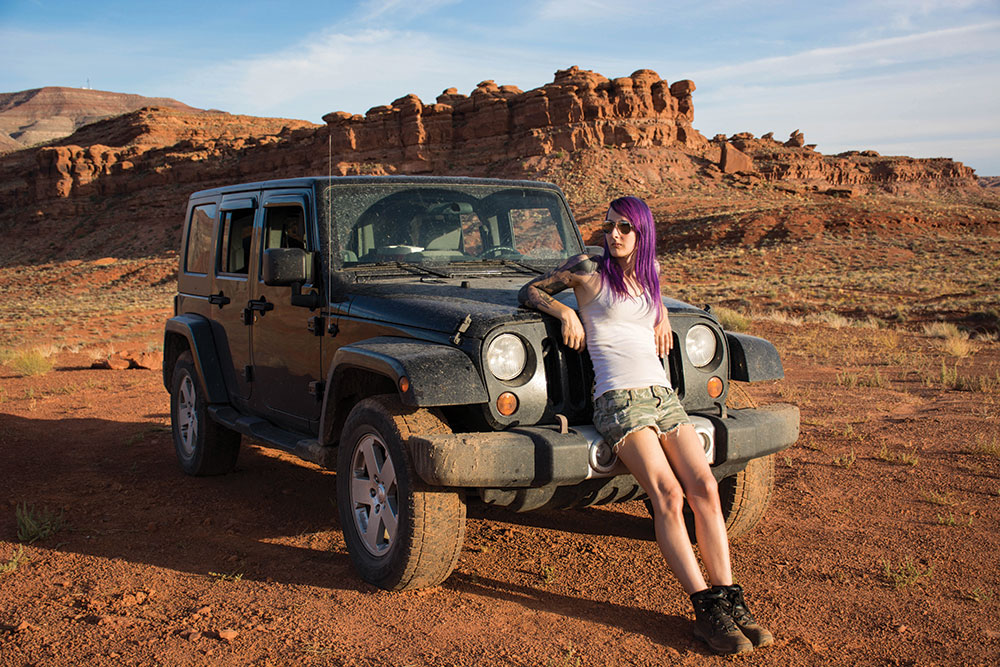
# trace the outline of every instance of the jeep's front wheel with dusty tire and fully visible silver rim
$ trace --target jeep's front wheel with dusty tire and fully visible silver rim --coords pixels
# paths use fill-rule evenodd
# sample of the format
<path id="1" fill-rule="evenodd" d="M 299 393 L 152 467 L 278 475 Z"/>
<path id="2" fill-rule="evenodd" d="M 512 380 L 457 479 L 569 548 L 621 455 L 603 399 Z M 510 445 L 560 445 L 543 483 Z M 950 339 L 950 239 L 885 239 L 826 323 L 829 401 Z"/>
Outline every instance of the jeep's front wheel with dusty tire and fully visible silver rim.
<path id="1" fill-rule="evenodd" d="M 465 501 L 428 487 L 413 470 L 412 434 L 450 433 L 428 410 L 395 396 L 359 402 L 337 452 L 337 507 L 361 578 L 393 591 L 435 586 L 451 574 L 465 537 Z"/>

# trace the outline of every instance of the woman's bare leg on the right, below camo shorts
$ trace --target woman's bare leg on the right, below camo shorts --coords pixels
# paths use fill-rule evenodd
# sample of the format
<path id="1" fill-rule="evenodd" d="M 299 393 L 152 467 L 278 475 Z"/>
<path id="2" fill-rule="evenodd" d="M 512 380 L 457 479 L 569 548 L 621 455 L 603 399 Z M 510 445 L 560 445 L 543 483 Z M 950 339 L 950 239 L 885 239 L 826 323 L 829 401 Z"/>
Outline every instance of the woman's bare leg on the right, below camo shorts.
<path id="1" fill-rule="evenodd" d="M 729 586 L 733 583 L 733 573 L 719 485 L 705 460 L 698 434 L 690 424 L 682 424 L 676 431 L 661 435 L 660 440 L 694 513 L 698 549 L 708 577 L 716 586 Z"/>

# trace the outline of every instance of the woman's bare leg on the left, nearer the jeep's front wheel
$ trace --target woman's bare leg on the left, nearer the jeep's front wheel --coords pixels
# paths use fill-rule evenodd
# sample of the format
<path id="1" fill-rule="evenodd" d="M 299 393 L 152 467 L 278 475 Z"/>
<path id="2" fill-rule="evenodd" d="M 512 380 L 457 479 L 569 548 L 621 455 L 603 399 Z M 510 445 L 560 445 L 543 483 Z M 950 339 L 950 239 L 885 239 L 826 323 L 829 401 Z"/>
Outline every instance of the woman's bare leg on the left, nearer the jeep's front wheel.
<path id="1" fill-rule="evenodd" d="M 656 543 L 674 576 L 688 594 L 707 588 L 684 525 L 684 491 L 656 431 L 643 428 L 627 435 L 618 448 L 618 458 L 653 504 Z"/>

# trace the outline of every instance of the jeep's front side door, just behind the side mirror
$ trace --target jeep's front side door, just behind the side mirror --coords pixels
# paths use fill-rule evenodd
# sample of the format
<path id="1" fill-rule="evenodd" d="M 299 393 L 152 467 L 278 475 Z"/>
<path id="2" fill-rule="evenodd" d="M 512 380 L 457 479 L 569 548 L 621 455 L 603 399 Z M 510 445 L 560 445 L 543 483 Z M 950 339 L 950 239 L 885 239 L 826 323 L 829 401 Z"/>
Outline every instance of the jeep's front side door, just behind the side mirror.
<path id="1" fill-rule="evenodd" d="M 319 310 L 293 306 L 290 287 L 264 284 L 263 252 L 269 248 L 317 249 L 310 199 L 302 190 L 275 190 L 262 198 L 259 252 L 253 281 L 251 347 L 256 385 L 254 411 L 270 421 L 304 433 L 319 425 L 320 344 L 313 329 Z M 307 293 L 312 285 L 302 286 Z M 322 330 L 322 329 L 321 329 Z"/>

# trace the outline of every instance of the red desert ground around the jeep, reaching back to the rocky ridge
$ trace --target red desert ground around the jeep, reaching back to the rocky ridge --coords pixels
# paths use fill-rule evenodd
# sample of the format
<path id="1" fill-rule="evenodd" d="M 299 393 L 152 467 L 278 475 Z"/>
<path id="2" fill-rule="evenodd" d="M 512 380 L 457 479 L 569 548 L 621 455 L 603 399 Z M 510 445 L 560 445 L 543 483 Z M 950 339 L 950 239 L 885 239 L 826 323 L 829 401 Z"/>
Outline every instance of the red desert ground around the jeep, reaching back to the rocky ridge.
<path id="1" fill-rule="evenodd" d="M 729 213 L 758 206 L 737 195 L 657 210 L 665 292 L 751 315 L 786 378 L 749 400 L 802 411 L 767 515 L 732 547 L 776 635 L 738 660 L 997 664 L 1000 207 L 789 195 Z M 601 213 L 583 211 L 585 230 Z M 175 267 L 0 267 L 0 667 L 729 660 L 691 637 L 642 503 L 470 502 L 452 576 L 388 593 L 351 567 L 333 473 L 244 441 L 234 473 L 183 475 L 159 371 L 91 368 L 155 351 Z M 973 332 L 965 356 L 921 329 L 936 320 Z M 39 342 L 55 367 L 24 376 L 11 351 Z M 23 544 L 24 504 L 62 527 Z"/>

